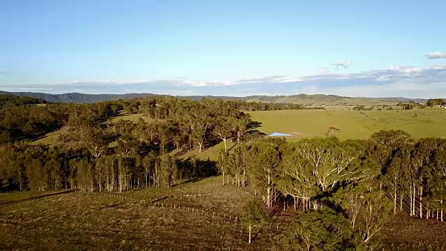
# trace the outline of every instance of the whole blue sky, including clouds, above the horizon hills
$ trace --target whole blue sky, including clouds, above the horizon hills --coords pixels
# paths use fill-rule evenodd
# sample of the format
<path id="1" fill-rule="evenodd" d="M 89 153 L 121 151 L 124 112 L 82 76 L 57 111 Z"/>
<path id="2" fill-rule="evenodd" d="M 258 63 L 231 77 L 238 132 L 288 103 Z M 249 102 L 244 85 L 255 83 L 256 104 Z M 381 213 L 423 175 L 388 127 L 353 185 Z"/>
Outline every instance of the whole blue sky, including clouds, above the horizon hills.
<path id="1" fill-rule="evenodd" d="M 0 90 L 446 98 L 446 1 L 1 0 Z"/>

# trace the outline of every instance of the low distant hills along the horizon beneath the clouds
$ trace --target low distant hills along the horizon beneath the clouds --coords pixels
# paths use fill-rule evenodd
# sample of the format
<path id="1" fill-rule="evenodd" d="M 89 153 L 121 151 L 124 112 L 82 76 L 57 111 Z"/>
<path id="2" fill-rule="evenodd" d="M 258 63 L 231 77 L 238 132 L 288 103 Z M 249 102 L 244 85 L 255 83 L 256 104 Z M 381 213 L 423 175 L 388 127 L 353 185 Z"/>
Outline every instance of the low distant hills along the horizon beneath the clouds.
<path id="1" fill-rule="evenodd" d="M 10 94 L 17 96 L 28 96 L 33 98 L 41 98 L 47 102 L 77 102 L 89 103 L 108 100 L 119 100 L 127 98 L 142 98 L 148 96 L 162 96 L 151 93 L 127 93 L 127 94 L 85 94 L 85 93 L 64 93 L 64 94 L 48 94 L 48 93 L 31 93 L 31 92 L 6 92 L 0 91 L 0 94 Z M 244 100 L 248 102 L 274 102 L 274 103 L 294 103 L 302 105 L 393 105 L 398 102 L 423 102 L 426 99 L 411 98 L 352 98 L 336 95 L 323 94 L 298 94 L 291 96 L 247 96 L 247 97 L 229 97 L 229 96 L 181 96 L 182 98 L 192 98 L 199 100 L 201 98 L 222 98 L 225 100 Z"/>

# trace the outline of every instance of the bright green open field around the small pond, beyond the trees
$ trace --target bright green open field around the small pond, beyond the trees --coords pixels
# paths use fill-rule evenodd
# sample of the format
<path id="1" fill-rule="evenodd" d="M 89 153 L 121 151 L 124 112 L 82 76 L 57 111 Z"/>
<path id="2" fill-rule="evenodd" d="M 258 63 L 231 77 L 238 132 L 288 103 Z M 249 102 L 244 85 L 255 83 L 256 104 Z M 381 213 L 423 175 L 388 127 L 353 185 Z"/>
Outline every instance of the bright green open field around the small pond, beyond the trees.
<path id="1" fill-rule="evenodd" d="M 408 111 L 282 110 L 250 112 L 258 128 L 269 135 L 283 132 L 323 136 L 330 126 L 339 128 L 341 139 L 364 139 L 378 130 L 405 130 L 415 138 L 446 137 L 446 109 Z M 295 137 L 293 137 L 295 138 Z"/>

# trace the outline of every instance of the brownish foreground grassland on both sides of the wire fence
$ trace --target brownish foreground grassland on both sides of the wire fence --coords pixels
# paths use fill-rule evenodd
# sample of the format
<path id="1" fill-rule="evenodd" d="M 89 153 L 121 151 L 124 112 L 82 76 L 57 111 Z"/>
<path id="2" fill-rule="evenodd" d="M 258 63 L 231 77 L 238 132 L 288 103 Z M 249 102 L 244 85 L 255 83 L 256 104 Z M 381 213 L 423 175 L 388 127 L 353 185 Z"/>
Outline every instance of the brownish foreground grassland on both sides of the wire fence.
<path id="1" fill-rule="evenodd" d="M 229 214 L 232 219 L 238 216 L 243 204 L 256 198 L 254 190 L 222 185 L 222 176 L 184 181 L 174 188 L 134 189 L 113 195 L 115 197 L 81 192 L 0 194 L 0 249 L 283 249 L 281 232 L 272 229 L 263 229 L 252 245 L 247 244 L 247 229 L 228 218 Z M 160 199 L 165 197 L 167 199 Z M 159 199 L 158 205 L 163 206 L 149 206 L 135 202 L 136 199 Z M 176 208 L 171 207 L 172 204 Z M 276 225 L 285 229 L 291 222 L 294 211 L 291 208 L 282 211 L 282 208 L 282 204 L 277 204 L 271 210 L 278 209 L 272 218 L 273 229 Z M 444 229 L 444 222 L 419 220 L 399 213 L 383 229 L 384 248 L 443 250 L 446 248 Z"/>

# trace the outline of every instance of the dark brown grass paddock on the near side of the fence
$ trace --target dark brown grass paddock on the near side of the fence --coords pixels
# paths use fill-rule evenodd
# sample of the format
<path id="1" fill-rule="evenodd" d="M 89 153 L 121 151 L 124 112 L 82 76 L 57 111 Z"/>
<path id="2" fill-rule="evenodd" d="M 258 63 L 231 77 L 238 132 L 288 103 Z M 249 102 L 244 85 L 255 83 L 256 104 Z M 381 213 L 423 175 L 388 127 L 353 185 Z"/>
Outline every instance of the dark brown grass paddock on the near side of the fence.
<path id="1" fill-rule="evenodd" d="M 262 231 L 248 245 L 245 227 L 229 220 L 81 193 L 0 205 L 0 225 L 0 249 L 279 248 L 277 231 Z"/>

